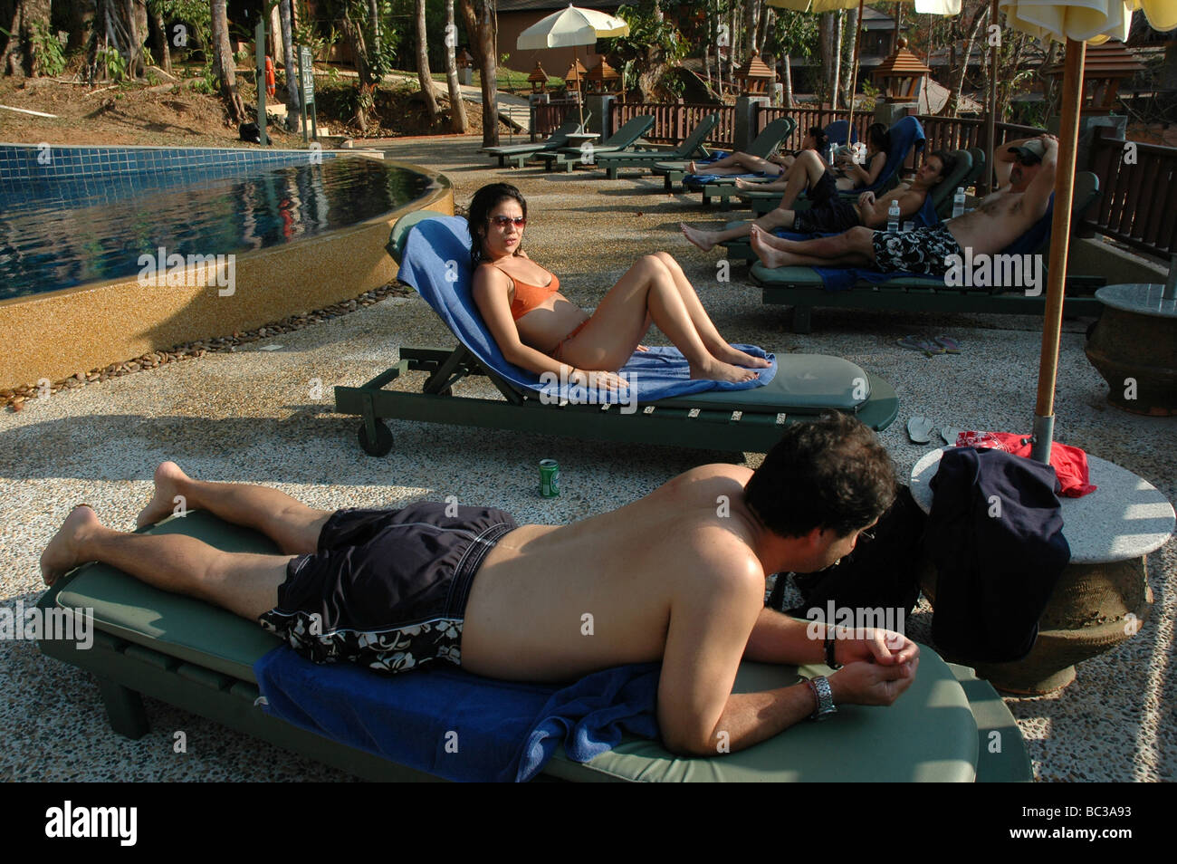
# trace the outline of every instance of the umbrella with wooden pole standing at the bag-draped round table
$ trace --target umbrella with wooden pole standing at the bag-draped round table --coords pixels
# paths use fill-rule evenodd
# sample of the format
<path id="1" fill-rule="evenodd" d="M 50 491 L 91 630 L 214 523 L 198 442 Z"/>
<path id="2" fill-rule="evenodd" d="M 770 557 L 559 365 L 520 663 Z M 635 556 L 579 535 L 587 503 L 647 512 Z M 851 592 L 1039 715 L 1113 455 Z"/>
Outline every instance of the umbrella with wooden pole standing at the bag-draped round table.
<path id="1" fill-rule="evenodd" d="M 1039 39 L 1066 42 L 1063 69 L 1063 114 L 1058 127 L 1058 167 L 1055 179 L 1055 215 L 1050 233 L 1050 270 L 1046 313 L 1038 365 L 1038 394 L 1033 417 L 1031 456 L 1050 463 L 1055 428 L 1055 381 L 1058 375 L 1058 344 L 1063 320 L 1063 286 L 1071 232 L 1071 199 L 1075 186 L 1075 149 L 1079 137 L 1083 100 L 1083 62 L 1086 44 L 1128 39 L 1132 12 L 1143 9 L 1155 29 L 1177 27 L 1175 0 L 998 0 L 1011 27 Z"/>

